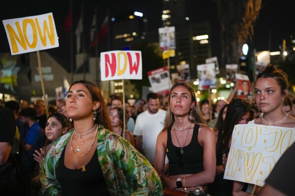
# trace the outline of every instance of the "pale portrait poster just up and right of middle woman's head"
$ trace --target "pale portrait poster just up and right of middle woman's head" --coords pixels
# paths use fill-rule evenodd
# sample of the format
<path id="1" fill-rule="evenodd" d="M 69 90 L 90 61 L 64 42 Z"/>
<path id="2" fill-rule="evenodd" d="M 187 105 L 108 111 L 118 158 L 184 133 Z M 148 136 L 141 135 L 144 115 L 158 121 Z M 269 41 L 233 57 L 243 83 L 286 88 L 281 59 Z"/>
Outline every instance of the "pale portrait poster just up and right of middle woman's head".
<path id="1" fill-rule="evenodd" d="M 216 87 L 215 64 L 197 65 L 197 78 L 199 79 L 199 90 L 206 90 Z"/>

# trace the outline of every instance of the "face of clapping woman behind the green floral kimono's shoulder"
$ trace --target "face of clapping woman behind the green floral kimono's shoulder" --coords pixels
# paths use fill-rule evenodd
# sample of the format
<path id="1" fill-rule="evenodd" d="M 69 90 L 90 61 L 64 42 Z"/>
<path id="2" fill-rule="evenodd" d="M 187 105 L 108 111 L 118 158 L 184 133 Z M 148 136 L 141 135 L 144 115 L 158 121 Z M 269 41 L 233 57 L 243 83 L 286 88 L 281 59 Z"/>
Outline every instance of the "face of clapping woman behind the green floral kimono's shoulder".
<path id="1" fill-rule="evenodd" d="M 50 141 L 55 141 L 66 133 L 66 128 L 63 129 L 62 123 L 55 117 L 50 117 L 47 120 L 45 127 L 45 135 Z"/>

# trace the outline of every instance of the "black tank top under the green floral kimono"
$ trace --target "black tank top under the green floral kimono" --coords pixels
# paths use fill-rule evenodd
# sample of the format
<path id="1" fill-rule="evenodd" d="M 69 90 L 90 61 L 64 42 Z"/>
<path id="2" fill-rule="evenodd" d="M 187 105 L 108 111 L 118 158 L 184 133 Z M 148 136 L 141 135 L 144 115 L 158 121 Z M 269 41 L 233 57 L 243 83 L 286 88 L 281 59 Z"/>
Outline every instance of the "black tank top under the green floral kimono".
<path id="1" fill-rule="evenodd" d="M 82 168 L 66 168 L 65 151 L 66 148 L 56 168 L 56 178 L 62 186 L 62 196 L 110 196 L 98 162 L 97 151 L 85 166 L 85 171 L 82 171 Z"/>

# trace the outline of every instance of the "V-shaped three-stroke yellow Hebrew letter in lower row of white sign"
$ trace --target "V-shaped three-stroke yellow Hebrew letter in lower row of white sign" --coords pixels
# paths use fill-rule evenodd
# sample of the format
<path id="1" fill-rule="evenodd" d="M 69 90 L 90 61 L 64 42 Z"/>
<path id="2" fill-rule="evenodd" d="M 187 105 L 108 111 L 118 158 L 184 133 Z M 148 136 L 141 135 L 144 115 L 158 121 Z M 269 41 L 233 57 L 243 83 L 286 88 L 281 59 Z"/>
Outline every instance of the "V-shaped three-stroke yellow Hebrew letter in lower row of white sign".
<path id="1" fill-rule="evenodd" d="M 262 153 L 246 153 L 244 156 L 244 173 L 247 182 L 250 182 L 256 173 Z"/>

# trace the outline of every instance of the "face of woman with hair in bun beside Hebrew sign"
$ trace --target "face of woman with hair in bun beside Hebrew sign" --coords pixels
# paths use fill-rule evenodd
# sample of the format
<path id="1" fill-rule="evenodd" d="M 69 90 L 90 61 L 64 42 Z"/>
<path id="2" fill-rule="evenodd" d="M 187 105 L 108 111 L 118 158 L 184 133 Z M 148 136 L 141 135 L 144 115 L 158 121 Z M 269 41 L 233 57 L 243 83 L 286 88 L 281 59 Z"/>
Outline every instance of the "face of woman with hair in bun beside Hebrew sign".
<path id="1" fill-rule="evenodd" d="M 287 90 L 285 93 L 287 94 Z M 255 101 L 262 112 L 282 108 L 281 88 L 273 78 L 259 78 L 255 83 Z"/>

